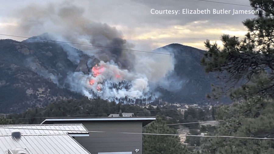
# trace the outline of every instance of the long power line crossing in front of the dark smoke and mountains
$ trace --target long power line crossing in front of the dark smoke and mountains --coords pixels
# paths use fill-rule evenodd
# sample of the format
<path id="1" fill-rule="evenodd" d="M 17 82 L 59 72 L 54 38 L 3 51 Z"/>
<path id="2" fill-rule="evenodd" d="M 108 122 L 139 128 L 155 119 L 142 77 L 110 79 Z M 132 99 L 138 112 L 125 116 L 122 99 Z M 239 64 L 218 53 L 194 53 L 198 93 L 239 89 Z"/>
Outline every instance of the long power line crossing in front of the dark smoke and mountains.
<path id="1" fill-rule="evenodd" d="M 46 40 L 46 39 L 39 39 L 39 38 L 33 38 L 33 37 L 23 37 L 23 36 L 6 35 L 6 34 L 0 34 L 0 35 L 3 35 L 3 36 L 11 36 L 11 37 L 21 37 L 21 38 L 27 38 L 27 39 L 36 39 L 36 40 L 53 41 L 53 42 L 60 42 L 60 43 L 87 45 L 87 46 L 92 46 L 92 47 L 104 47 L 104 48 L 118 49 L 118 50 L 137 51 L 137 52 L 145 52 L 145 53 L 152 53 L 152 54 L 164 54 L 164 53 L 159 53 L 159 52 L 150 52 L 150 51 L 123 49 L 123 48 L 116 48 L 116 47 L 105 47 L 105 46 L 99 46 L 99 45 L 81 44 L 81 43 L 73 43 L 73 42 L 65 42 L 65 41 L 57 41 L 57 40 Z M 175 54 L 164 54 L 164 55 L 179 56 L 179 57 L 190 57 L 190 56 L 175 55 Z M 190 57 L 190 58 L 192 58 L 192 57 Z"/>

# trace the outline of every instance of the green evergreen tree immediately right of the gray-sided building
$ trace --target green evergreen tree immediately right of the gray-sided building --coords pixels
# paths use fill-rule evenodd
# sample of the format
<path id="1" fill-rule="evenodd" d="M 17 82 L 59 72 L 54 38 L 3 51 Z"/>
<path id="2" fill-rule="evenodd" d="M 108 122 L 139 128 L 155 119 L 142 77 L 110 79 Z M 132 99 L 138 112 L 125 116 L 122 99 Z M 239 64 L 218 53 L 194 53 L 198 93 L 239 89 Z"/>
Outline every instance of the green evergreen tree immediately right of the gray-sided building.
<path id="1" fill-rule="evenodd" d="M 160 116 L 156 121 L 148 124 L 144 133 L 150 134 L 176 134 L 176 130 L 169 128 Z M 185 146 L 180 142 L 178 136 L 170 135 L 143 135 L 144 154 L 185 154 L 188 153 Z"/>

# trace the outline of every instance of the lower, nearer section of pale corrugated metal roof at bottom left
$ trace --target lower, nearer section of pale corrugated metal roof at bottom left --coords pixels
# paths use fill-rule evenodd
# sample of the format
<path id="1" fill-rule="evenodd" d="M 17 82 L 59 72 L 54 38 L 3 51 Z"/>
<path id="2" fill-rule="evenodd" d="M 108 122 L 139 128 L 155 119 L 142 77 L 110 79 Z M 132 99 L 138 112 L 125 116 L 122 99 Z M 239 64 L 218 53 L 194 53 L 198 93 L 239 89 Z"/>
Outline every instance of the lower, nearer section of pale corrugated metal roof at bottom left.
<path id="1" fill-rule="evenodd" d="M 22 135 L 21 138 L 0 135 L 0 153 L 15 148 L 27 148 L 33 154 L 90 154 L 68 134 Z"/>

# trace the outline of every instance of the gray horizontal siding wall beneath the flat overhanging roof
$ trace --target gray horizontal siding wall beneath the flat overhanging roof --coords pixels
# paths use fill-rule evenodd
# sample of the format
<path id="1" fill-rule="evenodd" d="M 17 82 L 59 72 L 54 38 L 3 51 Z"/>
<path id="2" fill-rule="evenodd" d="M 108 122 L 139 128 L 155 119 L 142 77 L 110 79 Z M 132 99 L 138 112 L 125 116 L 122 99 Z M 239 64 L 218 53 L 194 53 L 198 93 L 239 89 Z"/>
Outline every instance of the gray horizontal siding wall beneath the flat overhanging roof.
<path id="1" fill-rule="evenodd" d="M 142 122 L 82 122 L 82 124 L 88 131 L 107 131 L 107 133 L 90 132 L 90 136 L 75 137 L 75 140 L 90 153 L 135 153 L 135 149 L 140 149 L 137 154 L 142 154 L 142 134 L 117 133 L 142 133 Z"/>

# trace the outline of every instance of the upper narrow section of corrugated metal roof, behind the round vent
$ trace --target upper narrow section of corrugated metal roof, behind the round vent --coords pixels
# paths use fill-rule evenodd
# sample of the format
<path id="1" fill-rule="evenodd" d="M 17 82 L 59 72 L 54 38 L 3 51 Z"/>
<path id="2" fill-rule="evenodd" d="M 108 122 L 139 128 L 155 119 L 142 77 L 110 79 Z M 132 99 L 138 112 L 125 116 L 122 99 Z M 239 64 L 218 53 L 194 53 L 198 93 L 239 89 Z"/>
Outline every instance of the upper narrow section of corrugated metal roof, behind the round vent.
<path id="1" fill-rule="evenodd" d="M 18 129 L 22 135 L 89 134 L 83 124 L 0 125 L 0 135 L 11 135 Z"/>

